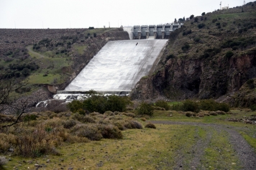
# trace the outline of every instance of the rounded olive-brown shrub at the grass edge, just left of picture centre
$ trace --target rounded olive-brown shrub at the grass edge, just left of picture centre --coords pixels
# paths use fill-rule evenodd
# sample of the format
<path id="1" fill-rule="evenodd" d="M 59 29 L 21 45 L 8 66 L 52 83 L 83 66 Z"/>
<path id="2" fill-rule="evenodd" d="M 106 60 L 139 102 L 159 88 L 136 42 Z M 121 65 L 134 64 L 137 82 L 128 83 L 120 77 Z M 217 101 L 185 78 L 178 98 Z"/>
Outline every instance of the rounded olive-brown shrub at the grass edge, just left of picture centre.
<path id="1" fill-rule="evenodd" d="M 122 132 L 116 126 L 101 125 L 99 129 L 104 138 L 123 138 Z"/>

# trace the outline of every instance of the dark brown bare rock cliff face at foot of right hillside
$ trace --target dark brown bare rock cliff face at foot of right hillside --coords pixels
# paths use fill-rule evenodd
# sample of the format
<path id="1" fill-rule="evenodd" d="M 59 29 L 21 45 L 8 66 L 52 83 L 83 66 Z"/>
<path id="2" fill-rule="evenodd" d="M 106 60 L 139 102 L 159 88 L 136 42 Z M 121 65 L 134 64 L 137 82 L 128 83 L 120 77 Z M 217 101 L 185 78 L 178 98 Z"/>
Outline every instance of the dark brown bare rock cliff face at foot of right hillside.
<path id="1" fill-rule="evenodd" d="M 256 53 L 247 52 L 227 59 L 170 59 L 155 75 L 142 79 L 132 91 L 132 98 L 170 99 L 219 98 L 231 94 L 255 77 Z"/>

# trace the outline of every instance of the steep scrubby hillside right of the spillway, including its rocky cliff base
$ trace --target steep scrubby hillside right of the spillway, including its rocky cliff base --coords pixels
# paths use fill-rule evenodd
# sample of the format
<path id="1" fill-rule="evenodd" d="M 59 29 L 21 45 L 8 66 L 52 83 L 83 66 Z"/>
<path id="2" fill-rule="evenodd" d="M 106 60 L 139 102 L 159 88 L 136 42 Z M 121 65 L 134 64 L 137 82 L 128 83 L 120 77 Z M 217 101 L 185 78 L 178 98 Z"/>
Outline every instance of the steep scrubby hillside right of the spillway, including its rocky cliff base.
<path id="1" fill-rule="evenodd" d="M 132 98 L 220 98 L 256 76 L 256 2 L 196 16 L 175 30 Z"/>

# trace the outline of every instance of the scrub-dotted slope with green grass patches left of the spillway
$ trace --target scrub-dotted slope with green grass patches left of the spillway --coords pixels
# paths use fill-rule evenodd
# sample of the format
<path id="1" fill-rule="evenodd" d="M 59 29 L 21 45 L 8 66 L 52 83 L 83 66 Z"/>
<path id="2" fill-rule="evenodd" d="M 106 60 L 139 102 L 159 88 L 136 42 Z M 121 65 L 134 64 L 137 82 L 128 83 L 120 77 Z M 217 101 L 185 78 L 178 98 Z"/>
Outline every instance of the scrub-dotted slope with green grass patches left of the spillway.
<path id="1" fill-rule="evenodd" d="M 129 39 L 122 29 L 0 29 L 0 79 L 15 79 L 27 93 L 45 85 L 64 89 L 109 40 Z"/>

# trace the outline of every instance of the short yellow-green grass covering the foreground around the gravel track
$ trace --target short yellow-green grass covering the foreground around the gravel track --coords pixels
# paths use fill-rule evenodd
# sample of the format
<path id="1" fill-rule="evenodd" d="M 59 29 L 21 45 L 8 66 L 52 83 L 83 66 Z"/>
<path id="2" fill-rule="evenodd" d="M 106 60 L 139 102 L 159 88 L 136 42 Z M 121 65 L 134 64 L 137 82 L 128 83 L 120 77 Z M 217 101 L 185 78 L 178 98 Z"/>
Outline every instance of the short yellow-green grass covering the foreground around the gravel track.
<path id="1" fill-rule="evenodd" d="M 256 151 L 255 125 L 228 122 L 227 118 L 252 115 L 247 110 L 232 110 L 232 114 L 188 118 L 176 111 L 155 110 L 147 121 L 215 123 L 237 129 Z M 57 146 L 60 156 L 52 154 L 35 158 L 5 155 L 9 159 L 4 169 L 193 169 L 196 158 L 201 169 L 241 169 L 241 162 L 226 131 L 192 125 L 155 124 L 156 129 L 144 128 L 140 118 L 129 120 L 141 123 L 142 129 L 122 131 L 122 139 L 65 142 Z M 58 121 L 58 119 L 55 119 Z M 203 144 L 200 144 L 203 143 Z M 197 154 L 195 154 L 197 151 Z M 198 154 L 199 153 L 199 154 Z M 36 165 L 37 164 L 37 165 Z"/>

